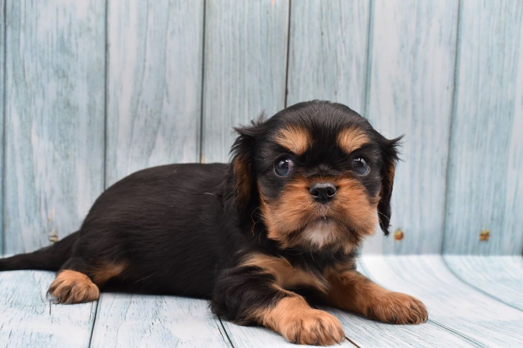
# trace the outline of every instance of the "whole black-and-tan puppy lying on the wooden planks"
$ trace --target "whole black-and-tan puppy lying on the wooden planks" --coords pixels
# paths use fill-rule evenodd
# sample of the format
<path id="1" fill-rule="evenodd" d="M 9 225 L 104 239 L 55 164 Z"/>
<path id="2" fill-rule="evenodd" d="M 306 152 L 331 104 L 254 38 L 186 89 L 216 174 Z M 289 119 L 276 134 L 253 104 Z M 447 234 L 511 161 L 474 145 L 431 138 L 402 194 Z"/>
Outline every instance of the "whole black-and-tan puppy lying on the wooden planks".
<path id="1" fill-rule="evenodd" d="M 362 240 L 388 234 L 399 138 L 348 107 L 291 106 L 236 129 L 231 164 L 176 164 L 133 173 L 96 200 L 81 228 L 0 270 L 58 270 L 59 303 L 99 289 L 211 299 L 212 311 L 300 344 L 344 340 L 308 301 L 388 323 L 427 320 L 416 298 L 356 271 Z"/>

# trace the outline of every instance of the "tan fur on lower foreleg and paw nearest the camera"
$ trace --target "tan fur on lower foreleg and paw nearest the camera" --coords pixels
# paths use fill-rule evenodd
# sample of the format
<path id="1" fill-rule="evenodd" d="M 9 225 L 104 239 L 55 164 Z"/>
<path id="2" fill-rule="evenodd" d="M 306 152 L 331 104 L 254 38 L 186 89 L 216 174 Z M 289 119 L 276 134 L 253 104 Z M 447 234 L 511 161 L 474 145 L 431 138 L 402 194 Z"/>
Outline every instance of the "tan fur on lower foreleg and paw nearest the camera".
<path id="1" fill-rule="evenodd" d="M 292 343 L 331 345 L 345 339 L 342 324 L 336 317 L 311 308 L 298 295 L 285 297 L 272 308 L 258 310 L 256 316 L 260 324 Z"/>

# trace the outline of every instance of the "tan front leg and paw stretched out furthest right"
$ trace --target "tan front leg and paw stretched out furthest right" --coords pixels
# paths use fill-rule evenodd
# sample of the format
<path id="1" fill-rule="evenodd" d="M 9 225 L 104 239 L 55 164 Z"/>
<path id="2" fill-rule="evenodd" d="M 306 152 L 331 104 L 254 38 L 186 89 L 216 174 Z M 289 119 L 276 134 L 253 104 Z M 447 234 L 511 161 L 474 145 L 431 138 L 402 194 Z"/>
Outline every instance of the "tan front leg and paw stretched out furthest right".
<path id="1" fill-rule="evenodd" d="M 331 285 L 326 300 L 332 306 L 395 324 L 419 324 L 428 319 L 420 300 L 388 291 L 356 270 L 327 269 L 325 276 Z"/>

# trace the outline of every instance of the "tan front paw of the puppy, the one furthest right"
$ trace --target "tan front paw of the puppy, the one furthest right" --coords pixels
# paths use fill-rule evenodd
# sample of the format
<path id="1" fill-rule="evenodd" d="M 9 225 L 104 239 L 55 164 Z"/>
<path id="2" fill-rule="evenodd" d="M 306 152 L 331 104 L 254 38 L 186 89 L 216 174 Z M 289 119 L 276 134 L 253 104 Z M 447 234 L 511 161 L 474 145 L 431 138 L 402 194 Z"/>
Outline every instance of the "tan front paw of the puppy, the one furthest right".
<path id="1" fill-rule="evenodd" d="M 391 324 L 420 324 L 428 319 L 422 301 L 407 294 L 388 292 L 376 298 L 367 317 Z"/>

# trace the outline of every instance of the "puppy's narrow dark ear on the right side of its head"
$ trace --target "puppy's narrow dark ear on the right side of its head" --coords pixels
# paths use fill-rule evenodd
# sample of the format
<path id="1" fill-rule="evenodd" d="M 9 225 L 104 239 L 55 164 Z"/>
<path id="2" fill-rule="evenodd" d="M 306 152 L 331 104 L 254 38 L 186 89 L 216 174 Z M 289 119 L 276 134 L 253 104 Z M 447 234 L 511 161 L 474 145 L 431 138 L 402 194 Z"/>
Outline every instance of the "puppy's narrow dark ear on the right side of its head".
<path id="1" fill-rule="evenodd" d="M 378 215 L 380 227 L 385 236 L 389 235 L 392 186 L 394 184 L 396 163 L 399 160 L 397 147 L 401 145 L 402 137 L 403 135 L 392 140 L 383 138 L 382 143 L 383 167 L 381 170 L 381 198 L 378 203 Z"/>

